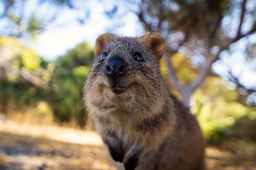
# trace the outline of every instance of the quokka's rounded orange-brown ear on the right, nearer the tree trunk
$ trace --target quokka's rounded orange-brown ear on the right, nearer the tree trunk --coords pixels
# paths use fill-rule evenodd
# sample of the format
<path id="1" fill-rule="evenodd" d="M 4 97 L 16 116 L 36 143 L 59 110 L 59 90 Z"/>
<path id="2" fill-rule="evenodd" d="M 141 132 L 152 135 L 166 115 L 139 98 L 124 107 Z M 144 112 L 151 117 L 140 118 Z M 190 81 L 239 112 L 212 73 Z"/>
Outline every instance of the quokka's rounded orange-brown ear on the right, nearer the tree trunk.
<path id="1" fill-rule="evenodd" d="M 139 37 L 139 40 L 146 44 L 149 49 L 152 49 L 157 59 L 160 59 L 162 55 L 164 55 L 165 40 L 161 35 L 157 33 L 147 33 L 142 37 Z"/>

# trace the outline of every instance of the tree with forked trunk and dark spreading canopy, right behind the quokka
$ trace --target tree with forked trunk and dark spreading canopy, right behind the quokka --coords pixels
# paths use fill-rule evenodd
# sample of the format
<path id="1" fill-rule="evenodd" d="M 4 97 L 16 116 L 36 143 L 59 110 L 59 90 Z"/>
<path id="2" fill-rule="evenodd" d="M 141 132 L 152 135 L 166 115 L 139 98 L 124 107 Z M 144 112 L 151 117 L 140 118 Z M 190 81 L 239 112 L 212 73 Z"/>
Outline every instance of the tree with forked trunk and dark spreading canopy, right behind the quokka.
<path id="1" fill-rule="evenodd" d="M 189 107 L 195 89 L 211 72 L 212 64 L 232 43 L 256 32 L 256 5 L 243 0 L 142 0 L 132 10 L 147 32 L 158 32 L 166 38 L 165 59 L 168 77 Z M 237 17 L 237 14 L 240 14 Z M 230 20 L 229 25 L 227 20 Z M 236 21 L 231 22 L 231 21 Z M 245 27 L 247 26 L 247 28 Z M 249 29 L 248 29 L 249 28 Z M 233 33 L 232 35 L 229 33 Z M 184 54 L 198 69 L 193 80 L 182 83 L 173 68 L 172 56 Z M 236 77 L 230 78 L 239 87 L 245 87 Z M 255 89 L 249 89 L 251 93 Z"/>

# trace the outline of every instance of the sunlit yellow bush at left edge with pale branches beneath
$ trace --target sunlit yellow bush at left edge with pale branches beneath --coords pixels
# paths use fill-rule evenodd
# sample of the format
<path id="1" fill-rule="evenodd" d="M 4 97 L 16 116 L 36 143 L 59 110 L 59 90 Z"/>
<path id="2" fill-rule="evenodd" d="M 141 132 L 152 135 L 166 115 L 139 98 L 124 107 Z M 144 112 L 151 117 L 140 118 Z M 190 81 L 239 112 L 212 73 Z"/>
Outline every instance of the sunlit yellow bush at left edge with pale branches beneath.
<path id="1" fill-rule="evenodd" d="M 0 80 L 50 90 L 50 72 L 54 68 L 50 65 L 42 68 L 44 60 L 33 50 L 20 45 L 17 38 L 0 36 L 0 56 Z"/>

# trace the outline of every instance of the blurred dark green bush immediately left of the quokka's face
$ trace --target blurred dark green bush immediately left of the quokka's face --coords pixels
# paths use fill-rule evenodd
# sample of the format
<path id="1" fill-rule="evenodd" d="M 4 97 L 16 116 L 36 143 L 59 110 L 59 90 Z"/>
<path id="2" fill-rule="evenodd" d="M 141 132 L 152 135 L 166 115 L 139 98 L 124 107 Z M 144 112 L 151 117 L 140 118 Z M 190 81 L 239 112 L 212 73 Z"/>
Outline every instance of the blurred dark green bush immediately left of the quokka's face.
<path id="1" fill-rule="evenodd" d="M 85 125 L 82 88 L 93 58 L 93 49 L 81 43 L 57 59 L 53 74 L 57 87 L 52 94 L 51 106 L 61 121 L 75 117 L 80 126 Z"/>

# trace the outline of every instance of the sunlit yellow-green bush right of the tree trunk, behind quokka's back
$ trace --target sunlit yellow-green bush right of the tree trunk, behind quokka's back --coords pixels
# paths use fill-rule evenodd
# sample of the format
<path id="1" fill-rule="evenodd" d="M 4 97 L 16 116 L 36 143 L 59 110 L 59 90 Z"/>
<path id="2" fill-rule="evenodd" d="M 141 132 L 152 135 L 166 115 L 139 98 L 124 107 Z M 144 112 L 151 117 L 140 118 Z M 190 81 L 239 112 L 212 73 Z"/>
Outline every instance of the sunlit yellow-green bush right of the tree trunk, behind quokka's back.
<path id="1" fill-rule="evenodd" d="M 234 127 L 243 124 L 256 111 L 239 103 L 238 91 L 228 89 L 224 81 L 216 76 L 208 76 L 193 98 L 192 112 L 197 116 L 204 136 L 213 144 L 236 136 Z"/>

